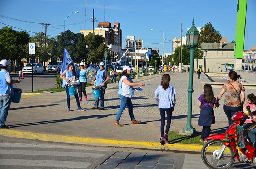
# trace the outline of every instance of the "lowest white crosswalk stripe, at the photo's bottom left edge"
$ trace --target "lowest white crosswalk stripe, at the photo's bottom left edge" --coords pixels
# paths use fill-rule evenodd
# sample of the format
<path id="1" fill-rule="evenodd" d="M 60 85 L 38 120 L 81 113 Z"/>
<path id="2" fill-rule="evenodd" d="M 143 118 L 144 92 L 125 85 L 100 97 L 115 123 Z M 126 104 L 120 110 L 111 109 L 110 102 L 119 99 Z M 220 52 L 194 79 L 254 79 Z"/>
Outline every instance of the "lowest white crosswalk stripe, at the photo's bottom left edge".
<path id="1" fill-rule="evenodd" d="M 18 166 L 37 166 L 37 167 L 87 168 L 91 163 L 75 162 L 75 161 L 53 161 L 53 160 L 0 159 L 0 164 L 1 165 L 18 165 Z"/>

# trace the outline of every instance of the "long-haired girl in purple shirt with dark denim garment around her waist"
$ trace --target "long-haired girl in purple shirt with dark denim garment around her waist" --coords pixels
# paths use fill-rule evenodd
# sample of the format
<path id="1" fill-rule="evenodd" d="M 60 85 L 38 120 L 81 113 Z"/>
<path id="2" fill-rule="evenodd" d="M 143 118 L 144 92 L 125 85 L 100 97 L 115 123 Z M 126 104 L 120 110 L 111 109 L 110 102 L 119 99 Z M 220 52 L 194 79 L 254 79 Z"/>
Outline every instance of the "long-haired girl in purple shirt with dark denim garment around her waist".
<path id="1" fill-rule="evenodd" d="M 205 143 L 207 142 L 206 138 L 210 135 L 213 120 L 215 121 L 213 107 L 216 108 L 217 103 L 211 85 L 204 85 L 204 92 L 199 96 L 198 100 L 200 108 L 198 125 L 203 126 L 200 141 Z"/>

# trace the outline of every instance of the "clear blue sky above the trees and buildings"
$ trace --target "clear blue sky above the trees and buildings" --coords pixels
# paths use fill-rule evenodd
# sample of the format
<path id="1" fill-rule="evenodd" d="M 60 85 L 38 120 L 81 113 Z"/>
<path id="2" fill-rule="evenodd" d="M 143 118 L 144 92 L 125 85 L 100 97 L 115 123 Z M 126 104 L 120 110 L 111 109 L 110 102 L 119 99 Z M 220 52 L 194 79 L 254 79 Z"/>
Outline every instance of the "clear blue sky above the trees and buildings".
<path id="1" fill-rule="evenodd" d="M 1 0 L 0 15 L 4 18 L 0 16 L 0 27 L 10 25 L 14 30 L 20 28 L 31 31 L 29 34 L 33 36 L 35 34 L 32 32 L 45 32 L 45 27 L 40 23 L 49 23 L 51 26 L 47 27 L 47 35 L 57 36 L 64 30 L 63 26 L 58 25 L 63 25 L 64 19 L 71 12 L 79 11 L 72 13 L 66 19 L 65 30 L 69 29 L 74 33 L 84 28 L 92 30 L 90 18 L 93 17 L 93 9 L 94 16 L 98 20 L 95 23 L 97 27 L 99 22 L 104 22 L 104 5 L 106 22 L 112 23 L 112 26 L 114 22 L 120 22 L 120 28 L 123 30 L 122 48 L 126 36 L 133 35 L 135 39 L 139 37 L 143 40 L 144 47 L 156 46 L 162 54 L 163 34 L 150 29 L 163 31 L 165 39 L 172 40 L 173 37 L 181 36 L 181 22 L 182 36 L 186 36 L 187 28 L 192 26 L 193 19 L 196 27 L 203 27 L 211 22 L 222 37 L 227 37 L 227 43 L 235 40 L 237 0 L 87 0 L 86 17 L 84 16 L 85 0 Z M 244 42 L 245 48 L 247 46 L 248 49 L 256 46 L 255 7 L 256 1 L 248 0 Z M 78 24 L 68 25 L 74 23 Z M 171 50 L 172 42 L 168 44 L 168 41 L 165 41 L 164 53 L 171 53 Z"/>

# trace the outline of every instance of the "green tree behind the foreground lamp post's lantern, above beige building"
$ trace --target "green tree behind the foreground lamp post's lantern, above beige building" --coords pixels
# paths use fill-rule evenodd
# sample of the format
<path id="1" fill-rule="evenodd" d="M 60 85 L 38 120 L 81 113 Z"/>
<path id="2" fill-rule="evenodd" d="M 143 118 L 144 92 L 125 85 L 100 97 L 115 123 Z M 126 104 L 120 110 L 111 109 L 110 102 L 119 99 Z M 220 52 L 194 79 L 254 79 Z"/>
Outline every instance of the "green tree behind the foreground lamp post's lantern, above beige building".
<path id="1" fill-rule="evenodd" d="M 211 22 L 205 24 L 201 28 L 198 39 L 198 46 L 195 48 L 195 59 L 203 59 L 203 51 L 201 51 L 202 43 L 220 43 L 221 34 L 214 29 Z"/>

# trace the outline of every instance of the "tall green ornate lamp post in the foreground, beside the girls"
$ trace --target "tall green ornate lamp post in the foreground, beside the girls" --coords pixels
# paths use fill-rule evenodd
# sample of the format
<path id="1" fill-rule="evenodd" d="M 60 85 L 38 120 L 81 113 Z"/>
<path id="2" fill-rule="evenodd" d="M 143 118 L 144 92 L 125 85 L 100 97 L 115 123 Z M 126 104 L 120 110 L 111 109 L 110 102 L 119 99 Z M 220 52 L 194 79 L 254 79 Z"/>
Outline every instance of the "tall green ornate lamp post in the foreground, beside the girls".
<path id="1" fill-rule="evenodd" d="M 194 54 L 195 47 L 198 45 L 199 31 L 194 26 L 194 19 L 192 22 L 192 27 L 187 31 L 187 44 L 190 47 L 190 71 L 189 71 L 189 81 L 188 81 L 188 112 L 187 112 L 187 125 L 182 130 L 182 134 L 196 134 L 195 128 L 191 124 L 192 115 L 192 93 L 193 90 L 193 70 L 194 70 Z"/>

